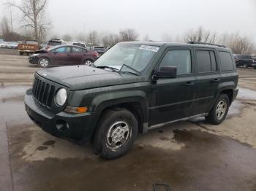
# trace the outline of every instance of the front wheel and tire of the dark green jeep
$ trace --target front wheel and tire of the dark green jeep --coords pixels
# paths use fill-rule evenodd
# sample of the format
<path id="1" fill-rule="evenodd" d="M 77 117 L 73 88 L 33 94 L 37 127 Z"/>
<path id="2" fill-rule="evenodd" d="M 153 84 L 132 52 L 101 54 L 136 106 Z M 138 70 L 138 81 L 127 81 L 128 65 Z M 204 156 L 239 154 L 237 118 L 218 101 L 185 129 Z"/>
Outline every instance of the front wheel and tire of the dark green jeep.
<path id="1" fill-rule="evenodd" d="M 127 109 L 108 109 L 99 120 L 92 146 L 101 157 L 114 159 L 126 154 L 137 136 L 138 121 L 132 112 Z"/>

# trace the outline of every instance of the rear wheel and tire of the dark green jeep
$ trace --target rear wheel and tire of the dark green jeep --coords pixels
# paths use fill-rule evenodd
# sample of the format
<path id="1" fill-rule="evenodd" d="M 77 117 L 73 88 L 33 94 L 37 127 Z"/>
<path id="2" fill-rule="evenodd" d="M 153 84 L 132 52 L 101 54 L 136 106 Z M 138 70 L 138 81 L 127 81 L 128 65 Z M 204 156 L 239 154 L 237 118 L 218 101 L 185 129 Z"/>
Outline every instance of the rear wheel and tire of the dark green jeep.
<path id="1" fill-rule="evenodd" d="M 220 94 L 216 103 L 211 108 L 208 116 L 206 116 L 206 122 L 213 125 L 219 125 L 222 123 L 222 121 L 225 120 L 225 117 L 227 116 L 229 106 L 230 100 L 227 97 L 227 94 Z"/>

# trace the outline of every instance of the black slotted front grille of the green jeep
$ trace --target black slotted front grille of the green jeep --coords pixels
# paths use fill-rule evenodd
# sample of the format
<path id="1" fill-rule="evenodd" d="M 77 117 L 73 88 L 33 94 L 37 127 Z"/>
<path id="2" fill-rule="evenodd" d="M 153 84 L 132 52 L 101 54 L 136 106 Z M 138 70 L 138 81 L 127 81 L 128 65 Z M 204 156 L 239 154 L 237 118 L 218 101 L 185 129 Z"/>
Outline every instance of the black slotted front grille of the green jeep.
<path id="1" fill-rule="evenodd" d="M 54 90 L 55 87 L 53 85 L 50 85 L 48 82 L 44 82 L 38 77 L 35 77 L 33 96 L 39 102 L 39 104 L 50 108 L 53 101 Z"/>

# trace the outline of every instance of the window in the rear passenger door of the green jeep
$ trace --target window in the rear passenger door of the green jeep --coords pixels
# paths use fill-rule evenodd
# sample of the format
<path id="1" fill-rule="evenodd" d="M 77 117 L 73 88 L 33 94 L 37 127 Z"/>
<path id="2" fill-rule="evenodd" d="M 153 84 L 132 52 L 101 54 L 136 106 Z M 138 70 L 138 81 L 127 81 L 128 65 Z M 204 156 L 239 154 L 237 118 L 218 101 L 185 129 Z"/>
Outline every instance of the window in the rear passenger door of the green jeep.
<path id="1" fill-rule="evenodd" d="M 214 51 L 197 50 L 197 69 L 199 73 L 217 71 Z"/>

